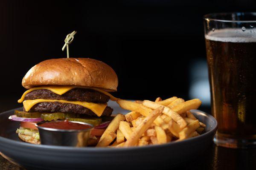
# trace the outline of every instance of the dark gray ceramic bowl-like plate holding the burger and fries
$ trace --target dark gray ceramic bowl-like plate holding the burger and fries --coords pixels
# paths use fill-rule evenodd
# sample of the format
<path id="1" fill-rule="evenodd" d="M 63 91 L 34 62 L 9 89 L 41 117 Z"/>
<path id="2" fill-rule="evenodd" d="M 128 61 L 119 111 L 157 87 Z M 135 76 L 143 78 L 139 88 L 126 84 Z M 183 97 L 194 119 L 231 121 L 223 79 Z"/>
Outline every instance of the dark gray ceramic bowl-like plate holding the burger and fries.
<path id="1" fill-rule="evenodd" d="M 118 108 L 114 102 L 110 102 L 109 105 L 114 108 L 114 113 L 127 113 Z M 207 128 L 201 136 L 181 142 L 131 148 L 36 145 L 18 139 L 15 130 L 19 127 L 19 122 L 8 119 L 13 112 L 14 110 L 0 113 L 1 155 L 19 166 L 37 170 L 169 168 L 200 155 L 212 143 L 217 130 L 217 122 L 211 115 L 192 110 Z"/>

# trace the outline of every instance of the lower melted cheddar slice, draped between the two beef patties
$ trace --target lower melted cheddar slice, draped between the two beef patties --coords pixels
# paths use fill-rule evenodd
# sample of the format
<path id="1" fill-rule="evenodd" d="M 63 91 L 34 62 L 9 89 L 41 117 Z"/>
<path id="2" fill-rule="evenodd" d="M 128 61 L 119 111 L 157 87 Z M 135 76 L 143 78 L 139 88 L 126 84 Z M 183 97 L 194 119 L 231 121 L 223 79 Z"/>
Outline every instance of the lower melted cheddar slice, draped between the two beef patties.
<path id="1" fill-rule="evenodd" d="M 61 103 L 69 103 L 75 105 L 81 105 L 84 108 L 88 108 L 93 111 L 97 116 L 101 116 L 107 104 L 98 104 L 92 102 L 80 102 L 80 101 L 67 101 L 67 100 L 50 100 L 50 99 L 35 99 L 35 100 L 25 100 L 23 101 L 23 106 L 26 111 L 29 111 L 33 105 L 41 102 L 61 102 Z"/>

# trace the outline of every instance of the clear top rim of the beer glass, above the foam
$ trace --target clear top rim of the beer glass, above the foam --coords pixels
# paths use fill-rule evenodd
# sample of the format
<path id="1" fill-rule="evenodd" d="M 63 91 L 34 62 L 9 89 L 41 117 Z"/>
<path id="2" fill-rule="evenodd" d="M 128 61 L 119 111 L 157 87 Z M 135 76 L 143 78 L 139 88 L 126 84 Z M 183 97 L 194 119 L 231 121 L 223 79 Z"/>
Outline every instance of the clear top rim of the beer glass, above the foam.
<path id="1" fill-rule="evenodd" d="M 256 18 L 256 12 L 221 12 L 221 13 L 209 13 L 204 15 L 204 20 L 209 20 L 209 21 L 220 21 L 220 22 L 227 22 L 227 23 L 256 23 L 256 20 L 222 20 L 222 19 L 214 19 L 212 18 L 213 15 L 229 15 L 229 14 L 250 14 L 254 15 Z"/>

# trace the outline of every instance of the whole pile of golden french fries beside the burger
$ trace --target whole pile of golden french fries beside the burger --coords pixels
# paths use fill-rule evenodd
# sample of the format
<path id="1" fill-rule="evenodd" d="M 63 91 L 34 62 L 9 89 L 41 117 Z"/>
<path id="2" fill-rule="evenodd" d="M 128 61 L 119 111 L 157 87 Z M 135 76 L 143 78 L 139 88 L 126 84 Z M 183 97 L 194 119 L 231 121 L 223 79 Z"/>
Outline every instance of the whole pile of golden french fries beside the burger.
<path id="1" fill-rule="evenodd" d="M 200 99 L 184 101 L 171 97 L 155 102 L 118 99 L 121 108 L 131 111 L 118 113 L 108 125 L 96 147 L 131 147 L 164 144 L 200 135 L 206 125 L 190 112 L 201 105 Z"/>

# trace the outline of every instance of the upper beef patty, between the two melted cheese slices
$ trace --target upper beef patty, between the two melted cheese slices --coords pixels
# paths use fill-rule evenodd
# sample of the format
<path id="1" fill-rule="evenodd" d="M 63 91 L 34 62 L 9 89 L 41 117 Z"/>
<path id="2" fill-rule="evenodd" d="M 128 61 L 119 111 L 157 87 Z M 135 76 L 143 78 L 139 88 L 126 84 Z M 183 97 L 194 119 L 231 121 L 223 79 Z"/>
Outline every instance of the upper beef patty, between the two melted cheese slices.
<path id="1" fill-rule="evenodd" d="M 41 89 L 32 91 L 25 95 L 25 100 L 34 99 L 55 99 L 68 101 L 77 100 L 82 102 L 107 103 L 109 96 L 88 88 L 73 88 L 62 95 L 55 94 L 49 90 Z"/>

